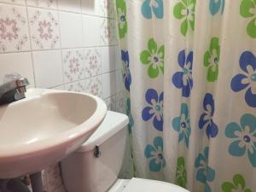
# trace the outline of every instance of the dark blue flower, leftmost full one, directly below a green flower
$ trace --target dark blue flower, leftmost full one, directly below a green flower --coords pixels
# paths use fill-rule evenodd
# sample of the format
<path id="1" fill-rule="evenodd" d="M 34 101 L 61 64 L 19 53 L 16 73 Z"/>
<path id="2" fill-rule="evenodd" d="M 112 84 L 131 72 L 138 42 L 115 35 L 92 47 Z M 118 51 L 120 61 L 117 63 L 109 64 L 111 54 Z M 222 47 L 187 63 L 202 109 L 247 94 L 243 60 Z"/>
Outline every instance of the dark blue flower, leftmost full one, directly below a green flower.
<path id="1" fill-rule="evenodd" d="M 144 121 L 153 119 L 154 128 L 163 131 L 163 99 L 164 92 L 158 93 L 154 89 L 149 89 L 145 95 L 148 106 L 143 108 L 142 117 Z"/>

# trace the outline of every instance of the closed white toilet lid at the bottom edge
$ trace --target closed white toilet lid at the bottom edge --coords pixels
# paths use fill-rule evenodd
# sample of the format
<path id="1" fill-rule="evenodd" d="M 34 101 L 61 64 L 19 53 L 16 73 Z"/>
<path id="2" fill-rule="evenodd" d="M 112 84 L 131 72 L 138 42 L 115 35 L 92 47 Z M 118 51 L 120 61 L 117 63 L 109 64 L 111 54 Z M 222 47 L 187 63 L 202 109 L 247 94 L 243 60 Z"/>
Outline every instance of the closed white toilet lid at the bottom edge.
<path id="1" fill-rule="evenodd" d="M 175 184 L 143 178 L 132 178 L 123 192 L 189 192 Z"/>

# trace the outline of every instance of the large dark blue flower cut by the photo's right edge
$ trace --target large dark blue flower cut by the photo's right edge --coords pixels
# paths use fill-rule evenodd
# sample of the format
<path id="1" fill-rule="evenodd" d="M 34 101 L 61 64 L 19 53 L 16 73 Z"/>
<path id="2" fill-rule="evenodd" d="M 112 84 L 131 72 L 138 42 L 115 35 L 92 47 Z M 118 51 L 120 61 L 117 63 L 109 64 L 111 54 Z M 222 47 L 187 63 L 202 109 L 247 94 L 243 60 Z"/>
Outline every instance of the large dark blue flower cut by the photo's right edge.
<path id="1" fill-rule="evenodd" d="M 247 105 L 256 108 L 256 57 L 252 52 L 244 51 L 239 63 L 243 72 L 232 79 L 231 89 L 235 92 L 246 90 Z"/>

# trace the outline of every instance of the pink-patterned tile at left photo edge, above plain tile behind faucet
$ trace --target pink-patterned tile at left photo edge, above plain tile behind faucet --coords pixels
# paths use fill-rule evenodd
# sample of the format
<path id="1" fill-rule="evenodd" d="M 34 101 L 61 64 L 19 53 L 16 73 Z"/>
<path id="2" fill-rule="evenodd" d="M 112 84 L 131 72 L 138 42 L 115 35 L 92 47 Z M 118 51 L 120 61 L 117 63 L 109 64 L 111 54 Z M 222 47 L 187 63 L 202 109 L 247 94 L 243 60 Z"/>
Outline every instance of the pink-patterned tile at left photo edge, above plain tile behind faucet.
<path id="1" fill-rule="evenodd" d="M 0 3 L 0 52 L 30 49 L 26 8 Z"/>

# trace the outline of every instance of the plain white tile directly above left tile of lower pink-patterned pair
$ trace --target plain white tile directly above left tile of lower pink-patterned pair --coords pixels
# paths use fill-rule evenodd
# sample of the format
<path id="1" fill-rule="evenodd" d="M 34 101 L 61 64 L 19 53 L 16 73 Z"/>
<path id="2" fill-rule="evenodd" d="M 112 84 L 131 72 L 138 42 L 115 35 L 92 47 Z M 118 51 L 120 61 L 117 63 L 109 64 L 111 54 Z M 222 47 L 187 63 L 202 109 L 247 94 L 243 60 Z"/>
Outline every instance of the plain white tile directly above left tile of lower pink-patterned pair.
<path id="1" fill-rule="evenodd" d="M 83 45 L 81 15 L 60 12 L 61 47 L 74 48 Z"/>

